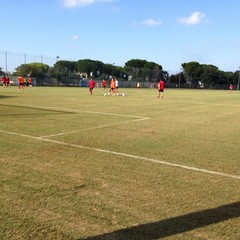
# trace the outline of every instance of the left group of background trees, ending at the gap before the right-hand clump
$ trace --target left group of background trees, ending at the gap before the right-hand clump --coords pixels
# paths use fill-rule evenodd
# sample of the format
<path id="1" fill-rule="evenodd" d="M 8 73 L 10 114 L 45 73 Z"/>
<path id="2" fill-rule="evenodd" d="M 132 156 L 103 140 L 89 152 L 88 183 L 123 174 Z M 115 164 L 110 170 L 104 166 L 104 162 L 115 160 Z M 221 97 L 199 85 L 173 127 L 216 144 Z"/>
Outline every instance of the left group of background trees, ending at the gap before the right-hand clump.
<path id="1" fill-rule="evenodd" d="M 115 64 L 104 64 L 101 61 L 84 59 L 78 61 L 57 61 L 53 67 L 42 63 L 22 64 L 16 68 L 15 74 L 33 77 L 58 78 L 111 78 L 115 76 L 121 80 L 154 81 L 162 77 L 162 66 L 146 60 L 132 59 L 124 67 Z M 166 72 L 165 72 L 166 74 Z"/>

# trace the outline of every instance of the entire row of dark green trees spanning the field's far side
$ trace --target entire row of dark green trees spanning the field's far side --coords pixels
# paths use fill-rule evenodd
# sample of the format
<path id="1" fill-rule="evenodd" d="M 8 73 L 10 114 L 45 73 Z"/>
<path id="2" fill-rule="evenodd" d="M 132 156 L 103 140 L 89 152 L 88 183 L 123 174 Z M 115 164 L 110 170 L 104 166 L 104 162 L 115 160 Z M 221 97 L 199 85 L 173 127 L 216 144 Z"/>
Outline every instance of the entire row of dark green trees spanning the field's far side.
<path id="1" fill-rule="evenodd" d="M 58 82 L 67 83 L 73 79 L 94 77 L 95 79 L 110 79 L 112 76 L 119 80 L 157 82 L 160 78 L 177 87 L 203 87 L 214 85 L 238 85 L 240 72 L 224 72 L 214 65 L 188 62 L 181 65 L 181 71 L 169 75 L 162 66 L 155 62 L 132 59 L 124 67 L 115 64 L 105 64 L 101 61 L 84 59 L 78 61 L 57 61 L 53 67 L 43 63 L 22 64 L 16 68 L 15 75 L 31 75 L 36 79 L 56 78 Z M 0 69 L 1 71 L 1 69 Z"/>

